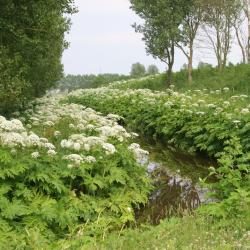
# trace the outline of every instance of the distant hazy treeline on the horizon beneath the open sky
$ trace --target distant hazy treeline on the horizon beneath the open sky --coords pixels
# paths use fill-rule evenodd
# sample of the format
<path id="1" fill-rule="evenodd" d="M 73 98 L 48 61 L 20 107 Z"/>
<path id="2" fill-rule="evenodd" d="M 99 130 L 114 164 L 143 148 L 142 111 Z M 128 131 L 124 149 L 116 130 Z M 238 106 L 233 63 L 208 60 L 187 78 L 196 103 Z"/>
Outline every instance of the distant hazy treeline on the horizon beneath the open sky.
<path id="1" fill-rule="evenodd" d="M 99 75 L 66 75 L 57 85 L 61 91 L 72 91 L 76 89 L 97 88 L 115 81 L 128 80 L 129 75 L 99 74 Z"/>

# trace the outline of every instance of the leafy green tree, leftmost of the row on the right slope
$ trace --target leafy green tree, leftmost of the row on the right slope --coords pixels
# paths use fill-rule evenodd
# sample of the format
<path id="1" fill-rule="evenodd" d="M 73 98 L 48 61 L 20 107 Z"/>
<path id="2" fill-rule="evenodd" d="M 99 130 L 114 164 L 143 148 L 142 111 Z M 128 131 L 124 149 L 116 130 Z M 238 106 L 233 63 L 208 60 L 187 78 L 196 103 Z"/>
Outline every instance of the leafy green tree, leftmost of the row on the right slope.
<path id="1" fill-rule="evenodd" d="M 180 41 L 180 25 L 189 11 L 191 0 L 131 0 L 132 9 L 144 20 L 134 24 L 143 34 L 146 50 L 167 64 L 167 86 L 172 83 L 175 46 Z"/>

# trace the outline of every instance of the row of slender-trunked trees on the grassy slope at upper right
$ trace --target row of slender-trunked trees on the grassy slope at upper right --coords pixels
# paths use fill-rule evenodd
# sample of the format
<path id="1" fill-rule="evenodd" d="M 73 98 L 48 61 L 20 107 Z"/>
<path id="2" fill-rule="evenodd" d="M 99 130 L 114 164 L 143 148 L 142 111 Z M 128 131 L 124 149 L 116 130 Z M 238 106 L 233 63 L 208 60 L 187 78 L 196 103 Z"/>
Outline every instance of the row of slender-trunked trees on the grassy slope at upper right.
<path id="1" fill-rule="evenodd" d="M 143 34 L 147 52 L 167 64 L 168 85 L 176 49 L 187 58 L 189 82 L 198 49 L 205 58 L 213 54 L 223 71 L 236 42 L 242 63 L 250 63 L 249 0 L 131 0 L 131 4 L 144 21 L 134 28 Z"/>

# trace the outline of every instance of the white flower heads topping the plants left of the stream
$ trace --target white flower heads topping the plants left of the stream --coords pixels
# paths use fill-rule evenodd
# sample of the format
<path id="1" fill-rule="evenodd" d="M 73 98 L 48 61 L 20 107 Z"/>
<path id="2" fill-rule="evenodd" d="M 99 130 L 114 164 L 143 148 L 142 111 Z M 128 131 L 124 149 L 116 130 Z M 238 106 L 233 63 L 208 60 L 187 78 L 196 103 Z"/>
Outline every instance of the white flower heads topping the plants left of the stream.
<path id="1" fill-rule="evenodd" d="M 37 99 L 20 119 L 6 120 L 0 116 L 0 145 L 13 150 L 30 148 L 33 159 L 44 154 L 57 156 L 72 167 L 94 163 L 97 151 L 103 156 L 113 155 L 117 152 L 116 144 L 128 144 L 138 136 L 118 124 L 123 119 L 121 116 L 103 116 L 82 105 L 61 104 L 62 98 L 65 95 Z M 60 127 L 62 123 L 64 126 Z M 141 157 L 139 148 L 136 152 L 135 157 Z"/>

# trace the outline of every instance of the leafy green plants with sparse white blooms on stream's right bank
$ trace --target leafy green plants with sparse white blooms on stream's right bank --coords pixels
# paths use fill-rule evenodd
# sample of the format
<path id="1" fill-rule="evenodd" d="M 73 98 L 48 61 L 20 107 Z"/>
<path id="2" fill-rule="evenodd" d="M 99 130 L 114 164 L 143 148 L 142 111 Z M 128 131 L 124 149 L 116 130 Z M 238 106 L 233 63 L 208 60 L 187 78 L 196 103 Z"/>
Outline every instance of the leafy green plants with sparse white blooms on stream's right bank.
<path id="1" fill-rule="evenodd" d="M 114 112 L 146 137 L 190 153 L 214 157 L 211 184 L 220 200 L 204 210 L 215 217 L 249 218 L 250 207 L 250 105 L 247 95 L 223 90 L 178 93 L 100 88 L 76 91 L 69 102 L 101 112 Z"/>

